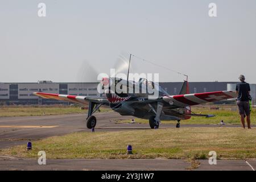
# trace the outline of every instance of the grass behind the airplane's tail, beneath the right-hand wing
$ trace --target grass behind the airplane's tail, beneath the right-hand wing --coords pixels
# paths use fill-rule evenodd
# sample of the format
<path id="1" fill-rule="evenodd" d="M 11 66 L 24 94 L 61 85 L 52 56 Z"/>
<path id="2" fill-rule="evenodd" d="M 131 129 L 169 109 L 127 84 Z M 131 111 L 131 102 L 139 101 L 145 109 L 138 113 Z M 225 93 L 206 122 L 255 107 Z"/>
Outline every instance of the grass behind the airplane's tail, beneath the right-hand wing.
<path id="1" fill-rule="evenodd" d="M 233 107 L 235 108 L 235 107 Z M 205 117 L 191 117 L 188 120 L 182 120 L 182 124 L 218 124 L 221 120 L 229 124 L 241 124 L 240 116 L 238 111 L 231 110 L 230 107 L 221 107 L 220 110 L 210 110 L 209 107 L 195 107 L 192 108 L 192 111 L 196 114 L 214 114 L 215 117 L 205 118 Z M 117 123 L 128 123 L 130 120 L 119 119 Z M 139 119 L 135 118 L 136 123 L 148 123 L 148 119 Z M 172 123 L 176 124 L 177 121 L 162 121 L 162 123 Z M 253 108 L 251 111 L 251 124 L 256 124 L 256 108 Z"/>

